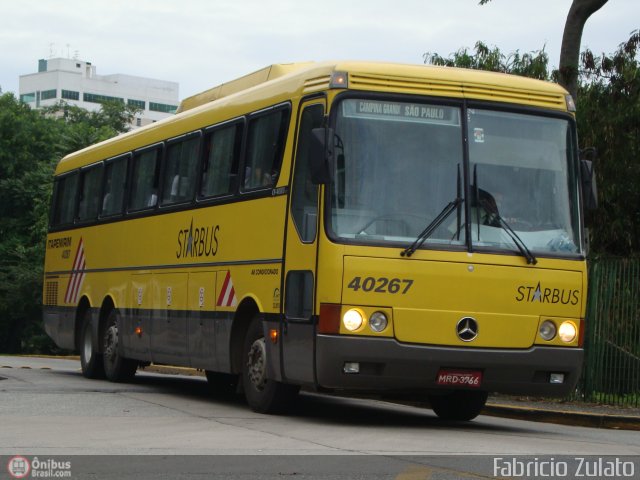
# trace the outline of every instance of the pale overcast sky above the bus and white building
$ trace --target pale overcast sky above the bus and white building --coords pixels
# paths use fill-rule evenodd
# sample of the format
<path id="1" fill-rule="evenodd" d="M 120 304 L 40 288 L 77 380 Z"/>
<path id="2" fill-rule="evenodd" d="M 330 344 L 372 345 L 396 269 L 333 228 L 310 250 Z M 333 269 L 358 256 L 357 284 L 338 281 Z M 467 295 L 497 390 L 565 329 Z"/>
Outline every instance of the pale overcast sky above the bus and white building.
<path id="1" fill-rule="evenodd" d="M 180 99 L 273 63 L 423 63 L 481 40 L 542 48 L 557 67 L 571 0 L 0 0 L 0 88 L 18 94 L 38 60 L 78 58 L 98 75 L 178 82 Z M 582 47 L 613 53 L 640 28 L 640 0 L 609 0 Z"/>

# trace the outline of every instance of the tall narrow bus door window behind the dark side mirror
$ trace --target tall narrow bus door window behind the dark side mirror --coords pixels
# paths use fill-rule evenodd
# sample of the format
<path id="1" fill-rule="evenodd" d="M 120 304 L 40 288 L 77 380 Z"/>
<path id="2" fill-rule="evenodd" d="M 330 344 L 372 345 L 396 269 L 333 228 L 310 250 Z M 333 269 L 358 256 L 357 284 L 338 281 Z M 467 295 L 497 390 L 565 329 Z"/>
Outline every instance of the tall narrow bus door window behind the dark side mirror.
<path id="1" fill-rule="evenodd" d="M 309 154 L 312 148 L 311 130 L 322 126 L 323 117 L 324 107 L 312 105 L 305 108 L 300 118 L 298 151 L 291 187 L 291 215 L 303 242 L 312 242 L 316 238 L 318 186 L 311 181 Z"/>

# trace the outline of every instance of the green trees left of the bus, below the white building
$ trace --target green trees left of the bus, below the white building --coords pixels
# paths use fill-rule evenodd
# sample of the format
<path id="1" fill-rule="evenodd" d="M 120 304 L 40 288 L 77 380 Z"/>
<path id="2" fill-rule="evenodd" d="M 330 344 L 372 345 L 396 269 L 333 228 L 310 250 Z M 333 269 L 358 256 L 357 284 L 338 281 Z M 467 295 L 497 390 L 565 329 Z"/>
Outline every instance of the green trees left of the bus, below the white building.
<path id="1" fill-rule="evenodd" d="M 52 174 L 65 154 L 126 131 L 134 113 L 122 104 L 36 111 L 0 95 L 0 352 L 55 350 L 40 320 Z"/>

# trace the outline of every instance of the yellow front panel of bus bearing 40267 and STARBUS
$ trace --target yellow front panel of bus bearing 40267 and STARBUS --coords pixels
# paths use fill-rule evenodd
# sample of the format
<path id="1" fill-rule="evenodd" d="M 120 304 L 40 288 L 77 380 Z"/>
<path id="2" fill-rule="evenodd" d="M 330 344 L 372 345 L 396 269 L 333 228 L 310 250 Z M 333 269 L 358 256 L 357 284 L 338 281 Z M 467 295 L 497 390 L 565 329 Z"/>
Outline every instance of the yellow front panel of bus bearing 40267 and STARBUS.
<path id="1" fill-rule="evenodd" d="M 579 324 L 584 317 L 582 262 L 541 259 L 532 267 L 522 257 L 449 252 L 445 259 L 420 252 L 418 257 L 432 259 L 406 259 L 399 251 L 397 259 L 345 256 L 341 303 L 392 306 L 400 342 L 528 348 L 536 343 L 541 318 Z M 393 279 L 399 288 L 390 293 L 386 285 Z M 465 317 L 479 324 L 472 345 L 456 334 Z"/>

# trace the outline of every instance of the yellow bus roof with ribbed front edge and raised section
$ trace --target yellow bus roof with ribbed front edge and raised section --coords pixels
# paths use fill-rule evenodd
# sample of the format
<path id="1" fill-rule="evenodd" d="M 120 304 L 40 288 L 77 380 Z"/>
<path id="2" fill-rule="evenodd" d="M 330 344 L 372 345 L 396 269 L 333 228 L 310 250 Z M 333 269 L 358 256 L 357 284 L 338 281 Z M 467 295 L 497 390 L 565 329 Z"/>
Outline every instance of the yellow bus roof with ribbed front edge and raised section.
<path id="1" fill-rule="evenodd" d="M 477 99 L 567 111 L 557 84 L 515 75 L 433 65 L 339 61 L 276 64 L 183 100 L 173 117 L 92 145 L 63 158 L 56 174 L 161 142 L 254 110 L 332 88 L 335 72 L 348 74 L 348 89 Z M 344 87 L 341 87 L 344 88 Z M 207 123 L 208 122 L 208 123 Z"/>

